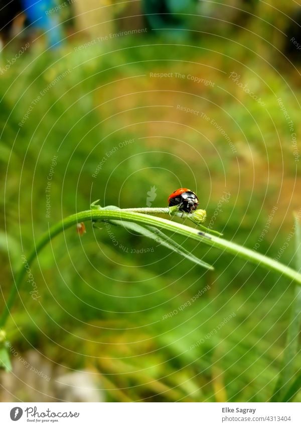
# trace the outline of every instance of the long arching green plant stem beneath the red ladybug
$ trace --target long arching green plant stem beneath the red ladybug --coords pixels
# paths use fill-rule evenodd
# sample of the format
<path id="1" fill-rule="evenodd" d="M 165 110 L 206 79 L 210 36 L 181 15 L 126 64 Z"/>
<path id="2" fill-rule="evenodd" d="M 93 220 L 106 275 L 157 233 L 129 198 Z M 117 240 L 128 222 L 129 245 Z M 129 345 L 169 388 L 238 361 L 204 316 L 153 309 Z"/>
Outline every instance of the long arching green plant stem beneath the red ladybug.
<path id="1" fill-rule="evenodd" d="M 30 253 L 27 263 L 30 265 L 34 259 L 37 257 L 37 254 L 43 249 L 44 246 L 57 234 L 60 234 L 67 228 L 72 227 L 78 222 L 84 221 L 109 221 L 109 220 L 126 220 L 131 222 L 137 222 L 141 224 L 146 224 L 148 226 L 162 227 L 166 230 L 172 231 L 174 233 L 181 234 L 185 237 L 190 237 L 198 241 L 202 241 L 209 246 L 219 248 L 226 252 L 232 253 L 237 257 L 243 258 L 249 262 L 252 262 L 258 266 L 264 267 L 267 270 L 273 270 L 281 275 L 286 276 L 287 278 L 294 280 L 298 285 L 301 285 L 301 274 L 295 270 L 275 261 L 271 258 L 266 257 L 258 252 L 255 252 L 251 249 L 247 249 L 244 246 L 233 243 L 231 241 L 225 240 L 221 237 L 217 237 L 213 234 L 205 233 L 199 231 L 197 228 L 188 227 L 184 224 L 179 224 L 173 222 L 169 219 L 160 218 L 152 215 L 147 215 L 145 213 L 140 213 L 141 208 L 136 209 L 139 212 L 135 212 L 135 209 L 109 209 L 109 208 L 100 208 L 92 209 L 87 211 L 82 211 L 73 215 L 68 216 L 63 219 L 63 221 L 55 224 L 50 227 L 48 232 L 42 235 L 41 239 L 36 244 L 33 251 Z M 167 208 L 143 208 L 143 212 L 147 213 L 168 213 Z M 22 266 L 19 271 L 16 280 L 15 286 L 12 287 L 9 298 L 6 303 L 6 307 L 0 317 L 0 328 L 2 328 L 10 314 L 10 311 L 15 302 L 16 296 L 19 292 L 20 285 L 27 274 L 27 271 L 24 266 Z"/>

